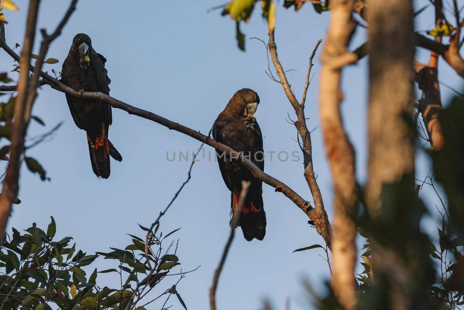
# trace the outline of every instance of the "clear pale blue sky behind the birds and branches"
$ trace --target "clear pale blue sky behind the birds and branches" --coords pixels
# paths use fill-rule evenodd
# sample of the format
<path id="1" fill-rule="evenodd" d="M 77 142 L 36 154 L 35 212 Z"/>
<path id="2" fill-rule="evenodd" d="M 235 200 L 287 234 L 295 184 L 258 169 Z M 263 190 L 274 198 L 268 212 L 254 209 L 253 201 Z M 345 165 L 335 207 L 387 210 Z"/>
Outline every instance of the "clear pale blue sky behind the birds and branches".
<path id="1" fill-rule="evenodd" d="M 25 31 L 27 1 L 16 0 L 19 12 L 5 12 L 6 41 L 10 46 L 22 44 Z M 198 4 L 200 3 L 201 4 Z M 130 3 L 130 5 L 128 5 Z M 72 38 L 87 33 L 98 53 L 103 54 L 111 79 L 110 95 L 133 106 L 155 112 L 163 117 L 207 133 L 233 93 L 247 87 L 258 92 L 261 99 L 255 114 L 264 135 L 265 151 L 299 151 L 296 130 L 286 122 L 292 107 L 282 87 L 264 73 L 267 60 L 264 46 L 258 40 L 246 40 L 246 52 L 238 50 L 235 26 L 220 11 L 206 13 L 222 2 L 207 1 L 92 1 L 80 0 L 61 36 L 53 42 L 49 57 L 60 60 L 45 65 L 49 72 L 61 70 Z M 416 1 L 422 7 L 428 1 Z M 316 14 L 307 4 L 298 13 L 286 10 L 282 1 L 277 6 L 276 42 L 279 59 L 285 70 L 295 69 L 292 86 L 301 98 L 308 57 L 316 41 L 325 37 L 328 14 Z M 43 0 L 39 27 L 49 32 L 55 28 L 67 9 L 68 1 Z M 267 24 L 258 7 L 249 24 L 242 25 L 247 38 L 267 41 Z M 417 19 L 416 28 L 433 27 L 433 11 L 427 9 Z M 39 34 L 34 52 L 39 51 Z M 366 40 L 366 31 L 359 28 L 352 47 Z M 319 51 L 321 51 L 320 48 Z M 318 53 L 319 54 L 319 53 Z M 418 49 L 419 61 L 427 62 L 428 52 Z M 13 64 L 6 53 L 0 53 L 5 71 Z M 271 67 L 272 69 L 272 67 Z M 309 86 L 306 115 L 308 127 L 319 125 L 317 89 L 319 61 L 313 67 L 314 79 Z M 273 70 L 274 72 L 274 70 Z M 459 89 L 461 79 L 443 61 L 439 79 Z M 11 73 L 17 79 L 16 73 Z M 290 79 L 290 73 L 289 73 Z M 344 122 L 356 149 L 357 177 L 367 177 L 367 59 L 343 72 L 342 103 Z M 446 102 L 452 92 L 442 87 Z M 420 93 L 416 93 L 419 98 Z M 39 90 L 33 114 L 42 118 L 47 127 L 32 123 L 29 133 L 45 132 L 60 121 L 64 125 L 51 141 L 28 152 L 44 166 L 51 182 L 41 182 L 37 175 L 22 169 L 20 205 L 15 205 L 9 227 L 26 229 L 32 222 L 46 227 L 53 216 L 57 237 L 73 236 L 77 247 L 87 251 L 106 251 L 130 243 L 126 233 L 141 235 L 137 223 L 148 226 L 169 203 L 187 177 L 189 162 L 169 162 L 166 152 L 195 151 L 200 143 L 179 132 L 113 109 L 113 125 L 109 137 L 121 152 L 123 161 L 111 162 L 108 180 L 95 177 L 90 167 L 84 131 L 72 121 L 64 94 L 48 86 Z M 329 218 L 332 218 L 332 187 L 320 129 L 311 135 L 314 170 L 322 191 Z M 418 143 L 418 149 L 420 145 Z M 213 152 L 206 147 L 206 152 Z M 300 152 L 301 155 L 301 152 Z M 208 308 L 208 289 L 221 251 L 229 234 L 230 194 L 223 183 L 218 165 L 200 159 L 193 166 L 192 179 L 186 185 L 167 215 L 161 220 L 163 231 L 182 227 L 178 256 L 183 270 L 201 267 L 188 274 L 178 290 L 189 309 Z M 417 153 L 417 178 L 431 173 L 423 151 Z M 266 161 L 265 171 L 280 179 L 303 198 L 311 200 L 303 178 L 303 158 L 294 162 Z M 267 231 L 264 241 L 247 242 L 238 232 L 233 241 L 217 292 L 220 309 L 260 309 L 264 298 L 284 308 L 290 298 L 291 309 L 308 309 L 301 280 L 308 278 L 322 292 L 329 279 L 327 263 L 318 254 L 320 249 L 292 253 L 297 248 L 323 244 L 322 237 L 308 224 L 308 218 L 284 195 L 263 187 Z M 429 189 L 420 193 L 434 208 L 436 198 Z M 434 228 L 431 220 L 425 226 Z M 362 240 L 360 240 L 360 243 Z M 97 268 L 113 268 L 113 261 L 96 261 Z M 101 285 L 119 279 L 99 275 Z M 177 281 L 170 278 L 169 288 Z M 163 288 L 164 289 L 164 288 Z M 181 306 L 175 300 L 173 309 Z M 160 305 L 161 307 L 161 305 Z"/>

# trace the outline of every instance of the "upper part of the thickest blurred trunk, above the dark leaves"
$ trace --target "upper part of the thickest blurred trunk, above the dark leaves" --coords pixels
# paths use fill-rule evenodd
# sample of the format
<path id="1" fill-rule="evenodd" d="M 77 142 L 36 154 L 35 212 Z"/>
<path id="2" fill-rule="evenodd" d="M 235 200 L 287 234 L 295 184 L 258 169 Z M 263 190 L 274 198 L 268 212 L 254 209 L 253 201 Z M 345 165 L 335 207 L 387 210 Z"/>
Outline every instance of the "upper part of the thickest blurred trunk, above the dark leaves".
<path id="1" fill-rule="evenodd" d="M 369 161 L 367 204 L 380 211 L 384 184 L 414 171 L 412 115 L 413 62 L 411 1 L 372 1 L 369 5 Z"/>

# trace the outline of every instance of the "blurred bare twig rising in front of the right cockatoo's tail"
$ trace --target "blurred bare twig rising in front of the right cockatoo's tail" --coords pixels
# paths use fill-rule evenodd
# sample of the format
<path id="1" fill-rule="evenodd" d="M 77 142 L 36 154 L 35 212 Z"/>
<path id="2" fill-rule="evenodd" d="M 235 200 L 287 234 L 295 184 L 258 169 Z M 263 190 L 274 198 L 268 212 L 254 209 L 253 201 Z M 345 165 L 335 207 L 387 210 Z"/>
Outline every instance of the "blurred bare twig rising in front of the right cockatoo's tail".
<path id="1" fill-rule="evenodd" d="M 238 224 L 238 219 L 240 218 L 240 213 L 242 212 L 242 207 L 245 202 L 246 194 L 248 193 L 248 188 L 250 187 L 251 182 L 242 180 L 242 191 L 240 191 L 240 198 L 238 199 L 238 207 L 237 210 L 233 211 L 232 216 L 232 225 L 231 225 L 231 232 L 229 238 L 227 239 L 226 246 L 224 247 L 224 251 L 222 252 L 222 257 L 219 262 L 218 268 L 214 272 L 213 284 L 209 289 L 209 303 L 211 310 L 216 310 L 216 288 L 218 286 L 219 275 L 221 274 L 222 267 L 224 266 L 224 262 L 226 261 L 227 253 L 229 252 L 229 248 L 232 244 L 232 240 L 235 234 L 235 228 Z"/>

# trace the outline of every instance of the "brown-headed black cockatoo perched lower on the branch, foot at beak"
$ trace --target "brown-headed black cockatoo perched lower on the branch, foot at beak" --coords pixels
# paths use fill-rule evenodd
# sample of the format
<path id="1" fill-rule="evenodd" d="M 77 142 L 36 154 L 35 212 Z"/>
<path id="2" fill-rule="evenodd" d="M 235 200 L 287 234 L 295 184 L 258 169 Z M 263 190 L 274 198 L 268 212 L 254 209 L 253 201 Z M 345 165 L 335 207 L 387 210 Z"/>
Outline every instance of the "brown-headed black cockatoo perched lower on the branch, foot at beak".
<path id="1" fill-rule="evenodd" d="M 258 94 L 253 90 L 244 88 L 236 92 L 214 122 L 213 138 L 236 152 L 242 152 L 259 169 L 264 170 L 263 135 L 253 117 L 258 104 Z M 266 234 L 263 182 L 253 177 L 248 169 L 233 158 L 231 160 L 230 156 L 218 154 L 218 163 L 222 178 L 231 191 L 231 216 L 238 207 L 242 180 L 251 182 L 238 225 L 241 226 L 246 240 L 263 240 Z"/>

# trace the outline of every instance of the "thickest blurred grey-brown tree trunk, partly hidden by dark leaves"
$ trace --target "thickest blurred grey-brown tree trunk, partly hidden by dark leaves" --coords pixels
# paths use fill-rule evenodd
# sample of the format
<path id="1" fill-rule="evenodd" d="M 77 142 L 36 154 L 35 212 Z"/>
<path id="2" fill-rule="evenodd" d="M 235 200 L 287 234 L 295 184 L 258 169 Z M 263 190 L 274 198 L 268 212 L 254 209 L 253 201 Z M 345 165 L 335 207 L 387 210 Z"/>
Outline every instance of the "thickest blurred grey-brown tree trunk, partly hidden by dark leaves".
<path id="1" fill-rule="evenodd" d="M 387 217 L 395 199 L 382 196 L 384 185 L 401 179 L 414 185 L 413 109 L 414 33 L 411 0 L 371 0 L 369 22 L 369 177 L 366 203 L 374 221 Z M 388 197 L 387 197 L 388 196 Z M 384 199 L 382 199 L 384 198 Z M 405 206 L 407 207 L 407 206 Z M 382 220 L 382 219 L 380 219 Z M 394 309 L 412 309 L 410 270 L 391 247 L 373 242 L 374 284 L 388 283 Z"/>

